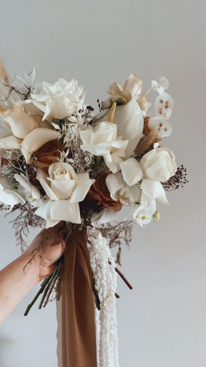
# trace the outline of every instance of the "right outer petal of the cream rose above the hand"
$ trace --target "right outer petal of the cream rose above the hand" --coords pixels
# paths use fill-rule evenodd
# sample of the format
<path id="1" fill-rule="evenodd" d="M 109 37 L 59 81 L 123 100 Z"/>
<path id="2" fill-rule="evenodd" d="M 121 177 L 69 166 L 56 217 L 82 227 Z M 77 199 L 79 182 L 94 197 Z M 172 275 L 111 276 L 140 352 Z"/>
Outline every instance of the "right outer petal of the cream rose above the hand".
<path id="1" fill-rule="evenodd" d="M 77 174 L 77 186 L 74 189 L 69 199 L 70 203 L 78 203 L 84 200 L 91 185 L 95 182 L 94 179 L 89 178 L 89 173 L 78 173 Z"/>

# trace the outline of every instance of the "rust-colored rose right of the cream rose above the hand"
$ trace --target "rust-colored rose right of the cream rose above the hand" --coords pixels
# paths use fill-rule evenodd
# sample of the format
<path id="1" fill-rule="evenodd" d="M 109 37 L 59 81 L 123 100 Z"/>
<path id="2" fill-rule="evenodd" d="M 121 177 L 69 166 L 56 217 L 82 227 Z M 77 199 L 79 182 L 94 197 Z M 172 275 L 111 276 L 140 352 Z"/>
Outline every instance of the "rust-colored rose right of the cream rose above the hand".
<path id="1" fill-rule="evenodd" d="M 101 205 L 103 209 L 110 208 L 114 211 L 119 211 L 122 208 L 120 201 L 111 199 L 110 192 L 106 185 L 107 174 L 103 173 L 98 176 L 95 183 L 89 189 L 87 199 L 89 201 L 96 201 L 97 205 Z"/>

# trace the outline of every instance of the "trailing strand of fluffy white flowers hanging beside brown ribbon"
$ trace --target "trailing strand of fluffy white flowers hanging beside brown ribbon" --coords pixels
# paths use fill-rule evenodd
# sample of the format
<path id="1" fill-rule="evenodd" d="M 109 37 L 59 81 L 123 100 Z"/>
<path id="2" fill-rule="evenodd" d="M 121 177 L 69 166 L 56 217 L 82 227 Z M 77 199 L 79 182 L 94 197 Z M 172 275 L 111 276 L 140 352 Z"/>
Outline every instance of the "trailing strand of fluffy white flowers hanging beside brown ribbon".
<path id="1" fill-rule="evenodd" d="M 90 259 L 95 288 L 101 300 L 96 310 L 97 344 L 100 367 L 118 367 L 118 336 L 116 317 L 117 273 L 107 240 L 99 233 L 91 239 Z M 109 264 L 111 263 L 111 265 Z"/>

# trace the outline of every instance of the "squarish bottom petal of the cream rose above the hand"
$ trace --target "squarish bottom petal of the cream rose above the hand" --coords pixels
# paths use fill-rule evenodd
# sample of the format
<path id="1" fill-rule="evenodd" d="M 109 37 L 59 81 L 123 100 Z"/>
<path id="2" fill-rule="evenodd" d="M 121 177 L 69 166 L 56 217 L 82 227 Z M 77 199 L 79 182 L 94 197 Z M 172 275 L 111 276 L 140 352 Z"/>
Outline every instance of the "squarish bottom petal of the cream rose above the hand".
<path id="1" fill-rule="evenodd" d="M 50 214 L 52 220 L 81 223 L 79 203 L 70 203 L 69 200 L 51 201 Z"/>

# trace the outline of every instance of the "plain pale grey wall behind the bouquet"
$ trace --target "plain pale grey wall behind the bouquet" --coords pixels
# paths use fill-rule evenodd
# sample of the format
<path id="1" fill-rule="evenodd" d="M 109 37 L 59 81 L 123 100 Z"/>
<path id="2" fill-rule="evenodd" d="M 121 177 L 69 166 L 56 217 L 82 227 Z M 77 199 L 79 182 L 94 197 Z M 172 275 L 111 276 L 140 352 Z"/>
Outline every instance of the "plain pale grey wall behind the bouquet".
<path id="1" fill-rule="evenodd" d="M 158 224 L 134 226 L 130 251 L 122 246 L 133 290 L 118 280 L 120 367 L 206 366 L 205 16 L 203 0 L 1 1 L 0 57 L 11 76 L 33 66 L 37 81 L 75 76 L 95 107 L 130 73 L 145 91 L 158 76 L 170 81 L 173 131 L 162 144 L 190 182 L 167 194 Z M 20 250 L 12 217 L 0 215 L 3 268 Z M 37 290 L 0 328 L 0 367 L 58 366 L 55 302 L 23 316 Z"/>

